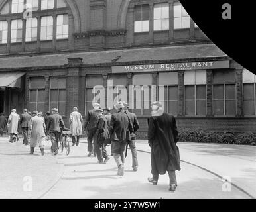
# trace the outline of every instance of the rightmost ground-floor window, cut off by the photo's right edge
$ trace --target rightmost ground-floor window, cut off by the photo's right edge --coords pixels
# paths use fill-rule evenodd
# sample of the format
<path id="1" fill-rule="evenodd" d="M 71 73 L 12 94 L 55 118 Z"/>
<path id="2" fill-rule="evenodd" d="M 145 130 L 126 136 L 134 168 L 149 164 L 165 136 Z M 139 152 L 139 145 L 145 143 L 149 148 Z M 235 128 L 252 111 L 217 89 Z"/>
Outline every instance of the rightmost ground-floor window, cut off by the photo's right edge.
<path id="1" fill-rule="evenodd" d="M 243 70 L 243 115 L 256 115 L 256 76 L 249 70 Z"/>

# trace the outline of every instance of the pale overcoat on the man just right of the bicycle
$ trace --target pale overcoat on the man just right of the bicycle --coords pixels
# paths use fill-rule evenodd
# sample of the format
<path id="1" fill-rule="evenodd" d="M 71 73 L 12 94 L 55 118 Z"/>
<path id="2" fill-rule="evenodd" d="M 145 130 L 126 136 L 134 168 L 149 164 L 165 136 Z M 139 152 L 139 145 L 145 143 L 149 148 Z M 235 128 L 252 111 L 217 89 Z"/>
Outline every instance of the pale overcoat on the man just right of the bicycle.
<path id="1" fill-rule="evenodd" d="M 70 113 L 70 132 L 72 136 L 80 136 L 83 134 L 83 118 L 78 111 Z"/>

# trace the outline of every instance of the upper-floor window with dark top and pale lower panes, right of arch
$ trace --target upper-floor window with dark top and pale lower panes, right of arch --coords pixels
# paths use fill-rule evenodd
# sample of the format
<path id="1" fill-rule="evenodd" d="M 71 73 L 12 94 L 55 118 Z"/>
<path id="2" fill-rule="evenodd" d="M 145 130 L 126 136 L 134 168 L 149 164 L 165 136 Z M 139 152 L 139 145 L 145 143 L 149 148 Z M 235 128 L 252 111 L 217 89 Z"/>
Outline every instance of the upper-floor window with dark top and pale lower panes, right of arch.
<path id="1" fill-rule="evenodd" d="M 134 32 L 149 32 L 149 5 L 135 7 Z"/>

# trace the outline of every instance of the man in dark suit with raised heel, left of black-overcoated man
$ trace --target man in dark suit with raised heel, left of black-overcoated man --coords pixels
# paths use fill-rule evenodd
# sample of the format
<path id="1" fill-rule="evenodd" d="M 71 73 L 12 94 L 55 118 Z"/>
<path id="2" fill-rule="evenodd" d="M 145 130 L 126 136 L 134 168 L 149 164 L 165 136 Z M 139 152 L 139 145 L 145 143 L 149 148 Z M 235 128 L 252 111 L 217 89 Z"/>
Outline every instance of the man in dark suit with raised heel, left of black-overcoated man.
<path id="1" fill-rule="evenodd" d="M 115 108 L 117 113 L 111 116 L 110 125 L 109 125 L 109 134 L 111 139 L 111 153 L 115 158 L 117 163 L 119 176 L 124 174 L 124 152 L 125 146 L 127 144 L 127 129 L 129 132 L 133 132 L 133 125 L 126 113 L 123 113 L 123 103 L 117 102 Z"/>

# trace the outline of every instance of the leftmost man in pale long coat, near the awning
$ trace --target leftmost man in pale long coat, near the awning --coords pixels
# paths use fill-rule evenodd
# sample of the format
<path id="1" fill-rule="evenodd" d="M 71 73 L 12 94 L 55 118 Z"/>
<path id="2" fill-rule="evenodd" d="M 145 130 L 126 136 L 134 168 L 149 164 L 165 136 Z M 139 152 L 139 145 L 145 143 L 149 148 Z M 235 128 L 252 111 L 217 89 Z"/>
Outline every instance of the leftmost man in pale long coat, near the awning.
<path id="1" fill-rule="evenodd" d="M 10 134 L 10 141 L 11 143 L 16 142 L 19 140 L 18 137 L 18 124 L 19 124 L 20 117 L 16 113 L 16 109 L 11 110 L 11 114 L 9 115 L 8 118 L 8 123 L 9 123 L 9 129 L 8 132 Z"/>

